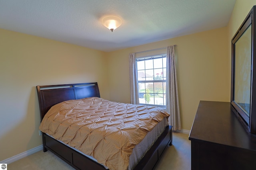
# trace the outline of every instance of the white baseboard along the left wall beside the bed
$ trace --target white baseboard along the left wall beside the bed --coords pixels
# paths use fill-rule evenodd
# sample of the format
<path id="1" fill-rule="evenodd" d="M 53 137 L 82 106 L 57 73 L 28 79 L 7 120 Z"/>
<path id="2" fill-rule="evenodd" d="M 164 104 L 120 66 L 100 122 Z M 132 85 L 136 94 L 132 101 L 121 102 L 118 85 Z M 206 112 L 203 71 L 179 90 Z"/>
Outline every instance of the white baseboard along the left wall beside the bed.
<path id="1" fill-rule="evenodd" d="M 32 148 L 32 149 L 30 149 L 30 150 L 27 150 L 27 151 L 25 151 L 25 152 L 22 152 L 22 153 L 20 153 L 20 154 L 17 154 L 17 155 L 15 155 L 15 156 L 12 156 L 11 158 L 8 158 L 8 159 L 6 159 L 6 160 L 2 160 L 2 161 L 0 161 L 0 164 L 10 164 L 10 163 L 12 163 L 12 162 L 15 162 L 16 160 L 19 160 L 19 159 L 21 159 L 21 158 L 24 158 L 24 157 L 26 157 L 26 156 L 28 156 L 28 155 L 30 155 L 30 154 L 36 153 L 36 152 L 38 152 L 38 151 L 40 151 L 40 150 L 42 150 L 42 149 L 43 149 L 43 145 L 40 145 L 40 146 L 38 146 L 38 147 Z"/>

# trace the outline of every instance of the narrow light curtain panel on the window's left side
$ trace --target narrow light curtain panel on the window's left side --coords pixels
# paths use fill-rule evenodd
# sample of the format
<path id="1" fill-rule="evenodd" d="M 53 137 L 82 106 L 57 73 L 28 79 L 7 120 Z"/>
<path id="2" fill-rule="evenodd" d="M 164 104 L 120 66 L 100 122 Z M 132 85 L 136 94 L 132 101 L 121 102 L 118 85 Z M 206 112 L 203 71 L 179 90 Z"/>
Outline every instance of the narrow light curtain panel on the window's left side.
<path id="1" fill-rule="evenodd" d="M 130 92 L 131 92 L 131 104 L 139 104 L 138 94 L 138 82 L 137 82 L 137 69 L 135 61 L 135 53 L 130 53 Z"/>

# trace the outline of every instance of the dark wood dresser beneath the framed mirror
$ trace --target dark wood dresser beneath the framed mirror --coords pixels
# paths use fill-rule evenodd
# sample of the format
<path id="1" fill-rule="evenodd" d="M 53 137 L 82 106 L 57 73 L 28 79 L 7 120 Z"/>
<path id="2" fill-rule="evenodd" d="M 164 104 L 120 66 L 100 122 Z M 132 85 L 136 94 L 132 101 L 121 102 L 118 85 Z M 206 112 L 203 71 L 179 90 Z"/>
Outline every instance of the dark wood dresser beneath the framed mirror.
<path id="1" fill-rule="evenodd" d="M 189 140 L 192 170 L 256 170 L 256 135 L 229 102 L 200 101 Z"/>

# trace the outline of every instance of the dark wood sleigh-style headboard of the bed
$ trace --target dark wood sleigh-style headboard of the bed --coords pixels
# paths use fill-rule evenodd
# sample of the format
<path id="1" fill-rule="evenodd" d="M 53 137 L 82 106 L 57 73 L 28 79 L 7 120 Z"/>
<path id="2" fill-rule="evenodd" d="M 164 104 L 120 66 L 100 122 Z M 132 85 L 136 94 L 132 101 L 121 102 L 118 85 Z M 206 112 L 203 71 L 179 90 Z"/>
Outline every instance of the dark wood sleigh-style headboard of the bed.
<path id="1" fill-rule="evenodd" d="M 99 97 L 98 83 L 60 84 L 36 86 L 41 121 L 47 111 L 60 102 L 88 97 Z"/>

